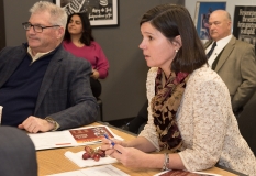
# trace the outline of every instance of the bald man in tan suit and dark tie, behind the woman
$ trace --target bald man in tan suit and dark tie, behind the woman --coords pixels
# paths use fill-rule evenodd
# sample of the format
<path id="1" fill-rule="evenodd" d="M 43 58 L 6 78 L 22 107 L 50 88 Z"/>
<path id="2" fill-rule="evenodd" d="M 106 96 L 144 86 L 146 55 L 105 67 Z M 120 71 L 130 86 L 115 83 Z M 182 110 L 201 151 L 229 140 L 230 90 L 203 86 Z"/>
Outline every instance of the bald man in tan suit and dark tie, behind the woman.
<path id="1" fill-rule="evenodd" d="M 205 53 L 212 54 L 208 63 L 226 84 L 233 112 L 237 117 L 256 90 L 255 50 L 231 34 L 231 15 L 224 10 L 211 13 L 209 31 L 212 41 L 205 43 Z M 214 43 L 216 45 L 211 51 Z"/>

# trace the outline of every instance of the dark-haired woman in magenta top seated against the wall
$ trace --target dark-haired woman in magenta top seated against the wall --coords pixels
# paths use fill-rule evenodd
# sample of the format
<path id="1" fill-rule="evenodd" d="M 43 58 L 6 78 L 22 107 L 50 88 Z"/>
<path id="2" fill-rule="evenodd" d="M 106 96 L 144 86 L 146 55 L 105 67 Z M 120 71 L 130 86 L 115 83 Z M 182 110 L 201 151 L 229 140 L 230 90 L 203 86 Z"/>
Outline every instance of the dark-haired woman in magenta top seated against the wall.
<path id="1" fill-rule="evenodd" d="M 104 79 L 108 76 L 109 62 L 92 36 L 87 13 L 74 13 L 68 16 L 63 45 L 75 56 L 91 63 L 90 84 L 93 96 L 98 98 L 101 94 L 101 84 L 98 79 Z"/>

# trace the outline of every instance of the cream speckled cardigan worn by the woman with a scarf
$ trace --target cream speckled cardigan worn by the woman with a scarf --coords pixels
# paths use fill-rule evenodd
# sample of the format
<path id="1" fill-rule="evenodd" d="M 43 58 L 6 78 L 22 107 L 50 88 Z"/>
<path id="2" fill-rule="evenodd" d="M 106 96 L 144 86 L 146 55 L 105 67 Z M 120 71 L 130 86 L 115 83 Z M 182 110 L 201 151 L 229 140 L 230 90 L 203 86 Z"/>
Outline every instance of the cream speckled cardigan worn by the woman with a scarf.
<path id="1" fill-rule="evenodd" d="M 155 96 L 156 72 L 153 67 L 147 74 L 148 102 Z M 219 163 L 256 175 L 256 158 L 240 133 L 229 90 L 208 66 L 191 74 L 176 118 L 183 140 L 179 155 L 188 170 L 207 169 Z M 159 151 L 151 107 L 148 122 L 140 136 L 149 140 Z"/>

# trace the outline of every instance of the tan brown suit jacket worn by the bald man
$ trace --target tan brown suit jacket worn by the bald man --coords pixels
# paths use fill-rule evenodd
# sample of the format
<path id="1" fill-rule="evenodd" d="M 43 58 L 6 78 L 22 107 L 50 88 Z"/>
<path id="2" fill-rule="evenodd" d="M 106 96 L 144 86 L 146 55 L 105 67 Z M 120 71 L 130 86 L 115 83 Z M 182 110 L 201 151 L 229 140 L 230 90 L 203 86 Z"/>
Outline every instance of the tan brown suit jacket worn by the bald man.
<path id="1" fill-rule="evenodd" d="M 212 41 L 205 43 L 207 48 Z M 216 57 L 214 70 L 229 88 L 233 111 L 243 108 L 256 90 L 256 58 L 254 46 L 236 40 L 231 41 Z"/>

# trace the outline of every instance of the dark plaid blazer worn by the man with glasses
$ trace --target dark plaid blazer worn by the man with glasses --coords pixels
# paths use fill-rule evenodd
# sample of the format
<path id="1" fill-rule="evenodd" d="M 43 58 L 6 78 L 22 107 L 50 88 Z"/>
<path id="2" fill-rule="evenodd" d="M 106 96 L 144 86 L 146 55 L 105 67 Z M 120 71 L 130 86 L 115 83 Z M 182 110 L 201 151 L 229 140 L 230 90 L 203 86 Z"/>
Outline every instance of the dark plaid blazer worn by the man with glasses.
<path id="1" fill-rule="evenodd" d="M 0 88 L 15 72 L 26 53 L 25 45 L 1 51 Z M 74 56 L 59 45 L 44 75 L 32 116 L 42 119 L 51 117 L 59 123 L 58 130 L 94 122 L 99 107 L 91 92 L 90 73 L 89 62 Z"/>

